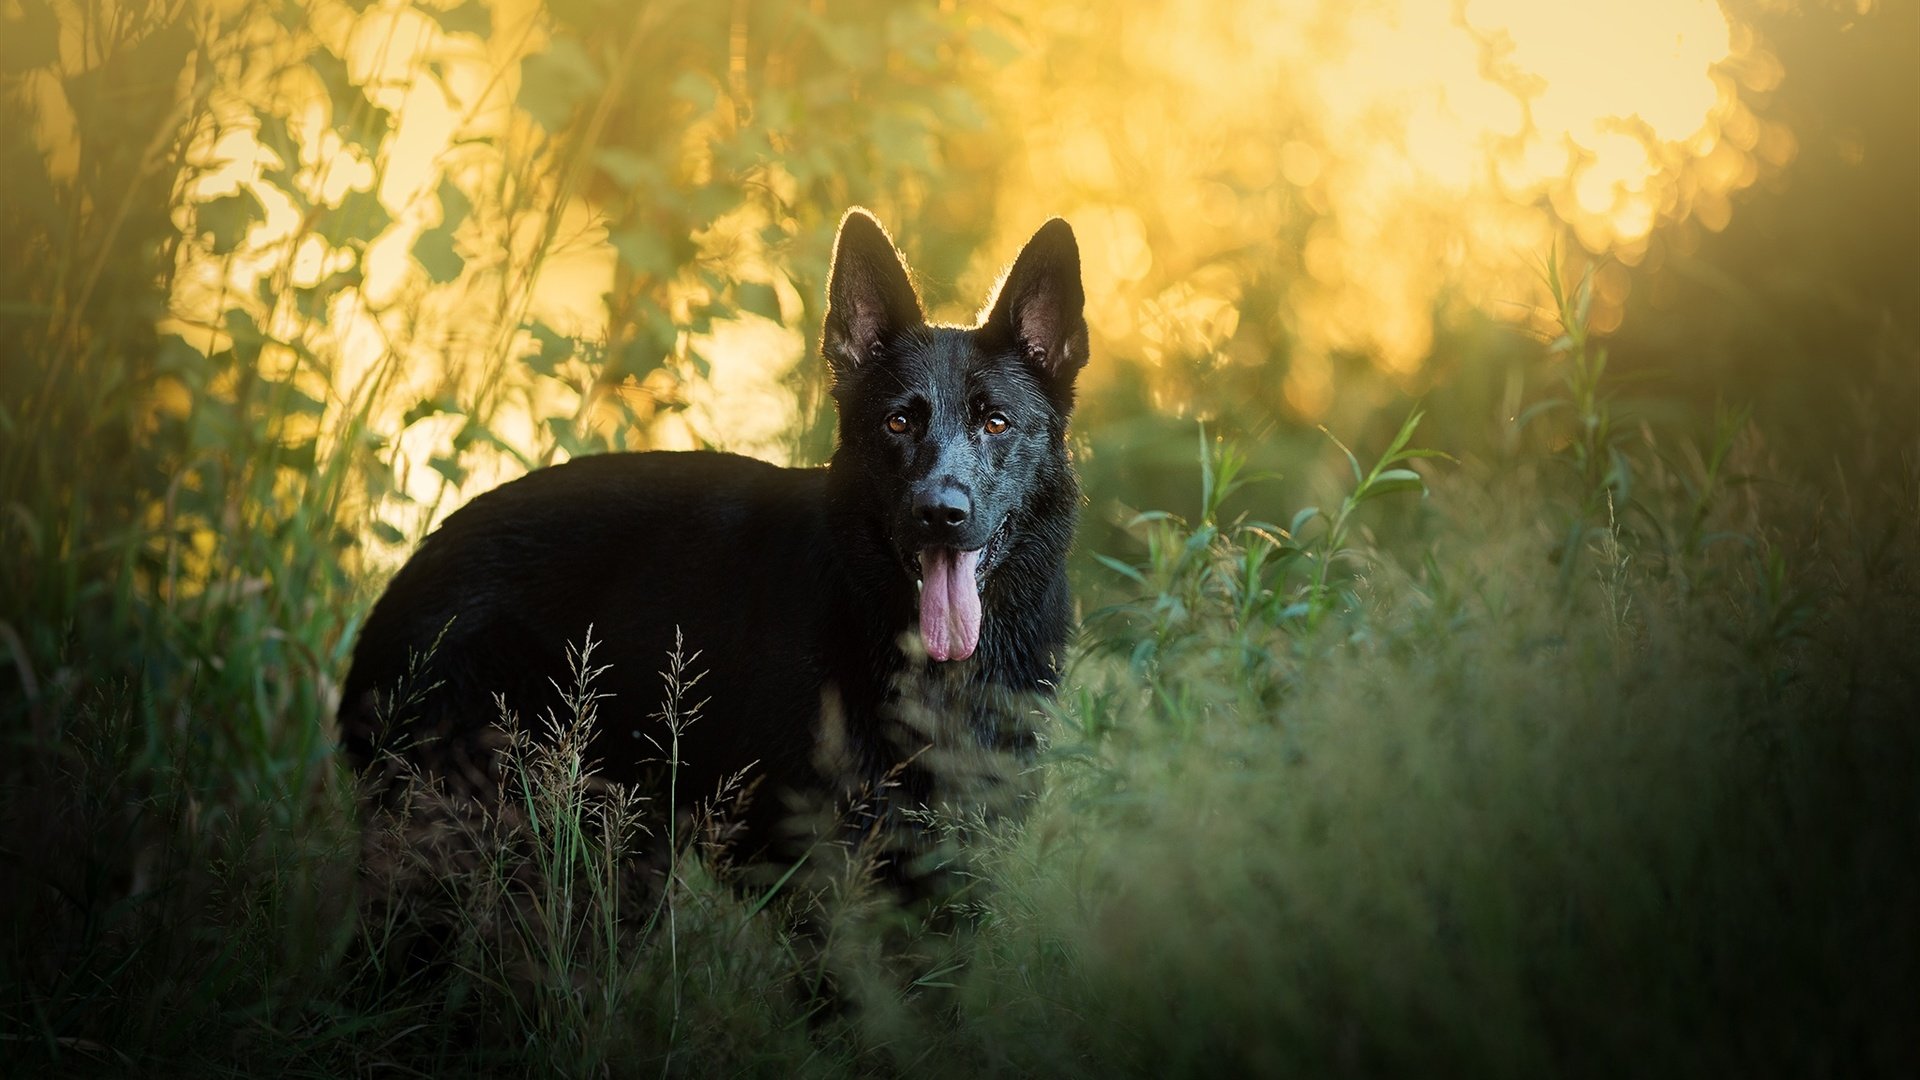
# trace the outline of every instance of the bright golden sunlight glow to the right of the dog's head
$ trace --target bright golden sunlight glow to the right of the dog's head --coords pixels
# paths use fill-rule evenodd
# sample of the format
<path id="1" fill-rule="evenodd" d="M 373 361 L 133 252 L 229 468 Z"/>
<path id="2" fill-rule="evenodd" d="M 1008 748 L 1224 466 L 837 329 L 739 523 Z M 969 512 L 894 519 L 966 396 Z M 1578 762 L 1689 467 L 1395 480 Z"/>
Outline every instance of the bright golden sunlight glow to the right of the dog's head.
<path id="1" fill-rule="evenodd" d="M 1021 110 L 1041 117 L 1037 183 L 1010 194 L 1006 233 L 1066 211 L 1094 248 L 1096 327 L 1125 342 L 1156 311 L 1196 325 L 1192 269 L 1248 233 L 1304 229 L 1286 398 L 1308 417 L 1331 400 L 1332 354 L 1411 373 L 1438 306 L 1534 302 L 1561 231 L 1636 265 L 1661 225 L 1724 227 L 1728 196 L 1791 156 L 1791 135 L 1740 100 L 1770 88 L 1778 63 L 1711 0 L 1605 15 L 1542 0 L 1169 0 L 1083 23 L 1050 10 L 1033 33 L 1079 29 L 1139 77 L 1104 86 L 1117 100 L 1077 94 L 1094 65 L 1064 75 L 1035 52 L 1008 94 L 1058 104 Z M 1594 317 L 1611 329 L 1620 307 L 1603 298 Z"/>

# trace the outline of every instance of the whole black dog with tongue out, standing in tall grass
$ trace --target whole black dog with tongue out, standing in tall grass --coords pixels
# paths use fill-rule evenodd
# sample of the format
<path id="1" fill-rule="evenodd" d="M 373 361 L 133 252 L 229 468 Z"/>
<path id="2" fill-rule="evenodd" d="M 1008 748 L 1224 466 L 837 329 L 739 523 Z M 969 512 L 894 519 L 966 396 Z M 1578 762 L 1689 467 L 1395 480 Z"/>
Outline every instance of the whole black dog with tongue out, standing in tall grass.
<path id="1" fill-rule="evenodd" d="M 476 498 L 361 632 L 340 711 L 353 763 L 407 759 L 490 790 L 493 696 L 526 717 L 551 707 L 591 625 L 612 694 L 591 757 L 664 801 L 653 711 L 678 628 L 707 671 L 678 809 L 745 771 L 737 861 L 791 861 L 799 811 L 858 792 L 968 805 L 947 786 L 964 751 L 1018 761 L 1060 671 L 1083 302 L 1073 231 L 1054 219 L 977 327 L 927 325 L 893 242 L 849 211 L 822 334 L 831 465 L 609 454 Z"/>

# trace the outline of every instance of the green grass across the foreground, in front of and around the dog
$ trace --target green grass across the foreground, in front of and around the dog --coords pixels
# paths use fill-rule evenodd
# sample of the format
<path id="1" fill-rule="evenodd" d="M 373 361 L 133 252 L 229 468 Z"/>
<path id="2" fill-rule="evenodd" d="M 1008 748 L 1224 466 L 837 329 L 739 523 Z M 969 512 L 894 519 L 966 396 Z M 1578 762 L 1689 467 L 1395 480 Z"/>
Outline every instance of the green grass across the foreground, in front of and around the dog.
<path id="1" fill-rule="evenodd" d="M 1142 561 L 1083 582 L 1140 598 L 1089 619 L 1044 794 L 977 844 L 958 920 L 893 911 L 858 859 L 770 905 L 691 855 L 630 880 L 632 803 L 578 755 L 591 655 L 553 738 L 513 728 L 507 809 L 449 815 L 465 840 L 426 855 L 376 840 L 365 905 L 338 776 L 248 788 L 190 738 L 144 757 L 132 688 L 75 686 L 12 763 L 6 817 L 38 836 L 10 840 L 33 880 L 8 1049 L 275 1074 L 1910 1063 L 1912 517 L 1874 559 L 1851 538 L 1876 523 L 1807 486 L 1709 490 L 1759 465 L 1743 430 L 1686 479 L 1622 450 L 1642 509 L 1571 552 L 1596 503 L 1565 452 L 1430 459 L 1380 502 L 1405 515 L 1384 548 L 1365 492 L 1411 434 L 1373 469 L 1342 454 L 1342 509 L 1290 528 L 1223 521 L 1236 455 L 1202 444 L 1202 519 L 1142 515 Z M 1857 477 L 1910 498 L 1910 461 Z M 1734 538 L 1684 542 L 1705 503 Z M 695 665 L 662 657 L 682 686 Z M 422 924 L 453 963 L 388 967 Z"/>

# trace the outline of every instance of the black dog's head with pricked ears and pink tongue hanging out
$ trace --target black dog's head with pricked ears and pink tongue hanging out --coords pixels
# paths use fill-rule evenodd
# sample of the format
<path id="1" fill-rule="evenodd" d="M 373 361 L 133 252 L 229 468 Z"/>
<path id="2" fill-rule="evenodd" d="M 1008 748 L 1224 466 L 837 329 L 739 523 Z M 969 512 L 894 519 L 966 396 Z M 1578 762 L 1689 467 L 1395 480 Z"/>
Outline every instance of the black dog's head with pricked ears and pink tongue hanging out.
<path id="1" fill-rule="evenodd" d="M 1079 244 L 1058 217 L 1027 240 L 975 327 L 927 325 L 879 221 L 864 209 L 841 221 L 820 342 L 839 404 L 833 467 L 885 515 L 933 659 L 973 653 L 981 592 L 1023 515 L 1048 484 L 1071 484 L 1083 307 Z"/>

